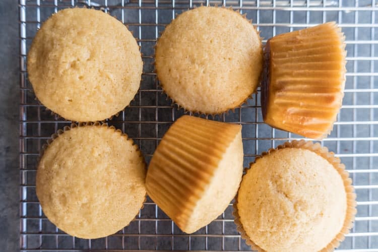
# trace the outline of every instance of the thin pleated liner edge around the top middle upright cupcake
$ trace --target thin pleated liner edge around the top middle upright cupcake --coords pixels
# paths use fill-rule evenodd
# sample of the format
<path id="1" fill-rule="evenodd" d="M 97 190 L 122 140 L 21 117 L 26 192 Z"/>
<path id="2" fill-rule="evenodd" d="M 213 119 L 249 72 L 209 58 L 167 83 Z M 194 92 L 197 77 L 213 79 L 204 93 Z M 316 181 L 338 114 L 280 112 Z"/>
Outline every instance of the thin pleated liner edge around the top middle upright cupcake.
<path id="1" fill-rule="evenodd" d="M 204 7 L 204 5 L 201 4 L 200 7 Z M 217 8 L 218 8 L 218 5 L 215 4 L 214 6 L 206 6 L 206 7 L 217 7 Z M 196 9 L 196 8 L 197 8 L 197 6 L 194 6 L 194 9 Z M 228 9 L 228 10 L 233 11 L 233 8 L 232 8 L 232 7 L 221 6 L 221 7 L 219 7 L 219 8 L 224 8 L 224 9 Z M 187 9 L 186 11 L 190 11 L 190 9 Z M 184 12 L 185 12 L 185 11 L 183 11 L 182 13 L 184 13 Z M 246 19 L 249 23 L 252 23 L 252 20 L 249 20 L 249 19 L 246 18 L 246 14 L 240 14 L 238 11 L 235 11 L 235 12 L 236 12 L 237 14 L 239 14 L 242 18 Z M 182 13 L 181 13 L 181 14 L 182 14 Z M 180 16 L 181 14 L 177 15 L 177 17 Z M 176 18 L 177 18 L 177 17 L 176 17 Z M 170 25 L 170 24 L 168 24 L 168 26 L 169 26 L 169 25 Z M 257 34 L 258 34 L 258 36 L 259 36 L 259 39 L 260 39 L 260 43 L 261 43 L 261 45 L 262 45 L 263 38 L 260 36 L 260 31 L 257 30 L 257 27 L 256 27 L 256 26 L 254 26 L 254 29 L 255 29 L 255 31 L 257 32 Z M 164 33 L 164 31 L 163 31 L 163 32 L 160 32 L 160 35 L 162 35 L 163 33 Z M 161 37 L 161 36 L 160 36 L 160 37 Z M 156 45 L 158 44 L 160 37 L 157 38 Z M 156 57 L 155 57 L 155 55 L 156 55 L 156 45 L 154 46 L 154 50 L 155 50 L 154 58 L 156 58 Z M 156 60 L 156 59 L 155 59 L 155 60 Z M 159 74 L 158 74 L 158 71 L 157 71 L 157 69 L 156 69 L 156 61 L 153 62 L 153 65 L 154 65 L 154 72 L 157 74 L 157 78 L 159 78 Z M 262 72 L 263 72 L 263 71 L 262 71 Z M 241 108 L 241 107 L 242 107 L 242 104 L 244 104 L 245 102 L 247 102 L 249 99 L 253 99 L 254 94 L 257 94 L 257 93 L 258 93 L 257 89 L 258 89 L 259 86 L 261 85 L 261 84 L 260 84 L 260 83 L 261 83 L 261 79 L 262 79 L 262 76 L 260 75 L 260 77 L 259 77 L 259 81 L 258 81 L 258 85 L 256 86 L 255 90 L 254 90 L 252 93 L 250 93 L 249 95 L 247 95 L 247 96 L 245 97 L 245 99 L 244 99 L 242 102 L 240 102 L 238 105 L 236 105 L 236 106 L 234 106 L 234 107 L 229 107 L 229 108 L 225 109 L 224 111 L 214 112 L 214 113 L 208 113 L 208 112 L 201 111 L 201 110 L 188 109 L 188 108 L 186 108 L 185 106 L 182 106 L 178 101 L 176 101 L 176 100 L 174 99 L 174 97 L 170 96 L 170 95 L 164 90 L 164 84 L 163 84 L 161 81 L 159 81 L 159 86 L 160 86 L 161 89 L 162 89 L 162 93 L 164 93 L 164 94 L 167 96 L 167 99 L 170 99 L 170 100 L 171 100 L 171 103 L 172 103 L 171 105 L 172 105 L 172 106 L 177 106 L 177 109 L 178 109 L 178 110 L 179 110 L 179 109 L 183 109 L 184 113 L 191 112 L 191 113 L 193 113 L 193 114 L 204 115 L 204 116 L 206 116 L 206 117 L 208 117 L 209 115 L 211 115 L 211 116 L 214 118 L 216 115 L 221 115 L 222 113 L 229 113 L 230 111 L 235 112 L 235 109 L 236 109 L 236 108 Z"/>

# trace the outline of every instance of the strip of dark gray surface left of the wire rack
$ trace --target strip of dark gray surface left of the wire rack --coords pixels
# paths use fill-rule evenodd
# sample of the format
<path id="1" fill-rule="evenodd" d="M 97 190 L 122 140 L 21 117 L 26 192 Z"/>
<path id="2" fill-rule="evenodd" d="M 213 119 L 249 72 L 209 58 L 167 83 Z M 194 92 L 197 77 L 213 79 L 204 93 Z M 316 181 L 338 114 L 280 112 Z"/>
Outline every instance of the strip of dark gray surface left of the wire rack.
<path id="1" fill-rule="evenodd" d="M 0 250 L 19 245 L 18 1 L 0 1 Z"/>

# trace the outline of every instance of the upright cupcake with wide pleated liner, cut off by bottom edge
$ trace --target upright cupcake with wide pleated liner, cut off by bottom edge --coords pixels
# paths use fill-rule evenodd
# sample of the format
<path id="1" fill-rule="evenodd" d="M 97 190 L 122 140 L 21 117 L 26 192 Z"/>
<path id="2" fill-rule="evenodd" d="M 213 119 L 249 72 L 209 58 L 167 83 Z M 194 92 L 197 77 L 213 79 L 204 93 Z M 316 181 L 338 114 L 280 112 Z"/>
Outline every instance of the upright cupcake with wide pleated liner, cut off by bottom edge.
<path id="1" fill-rule="evenodd" d="M 250 164 L 234 203 L 235 223 L 259 251 L 332 251 L 356 213 L 351 179 L 319 143 L 286 142 Z"/>

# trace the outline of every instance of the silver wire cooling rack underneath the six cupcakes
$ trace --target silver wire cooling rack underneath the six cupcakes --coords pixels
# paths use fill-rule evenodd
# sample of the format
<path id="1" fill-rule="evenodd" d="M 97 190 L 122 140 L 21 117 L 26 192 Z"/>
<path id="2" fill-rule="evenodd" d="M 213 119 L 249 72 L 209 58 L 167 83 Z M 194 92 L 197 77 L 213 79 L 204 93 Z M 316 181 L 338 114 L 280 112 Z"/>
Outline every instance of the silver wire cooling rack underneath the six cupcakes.
<path id="1" fill-rule="evenodd" d="M 153 46 L 176 14 L 199 5 L 225 5 L 247 14 L 270 38 L 276 34 L 336 21 L 346 35 L 347 80 L 343 107 L 332 134 L 322 144 L 345 163 L 357 193 L 355 226 L 340 250 L 378 251 L 378 30 L 375 1 L 265 0 L 19 0 L 20 21 L 20 248 L 53 250 L 249 250 L 235 229 L 231 205 L 194 234 L 182 233 L 151 201 L 128 227 L 101 239 L 85 240 L 65 234 L 50 223 L 35 194 L 36 162 L 41 146 L 69 121 L 35 101 L 26 70 L 26 54 L 41 23 L 52 13 L 74 6 L 110 13 L 134 32 L 143 52 L 143 81 L 135 100 L 109 124 L 132 137 L 147 162 L 169 125 L 183 114 L 162 94 L 153 72 Z M 206 31 L 204 31 L 206 32 Z M 237 34 L 235 34 L 237 36 Z M 264 40 L 265 43 L 266 40 Z M 216 120 L 241 123 L 244 166 L 255 156 L 299 136 L 263 123 L 259 95 Z M 375 127 L 375 131 L 374 131 Z"/>

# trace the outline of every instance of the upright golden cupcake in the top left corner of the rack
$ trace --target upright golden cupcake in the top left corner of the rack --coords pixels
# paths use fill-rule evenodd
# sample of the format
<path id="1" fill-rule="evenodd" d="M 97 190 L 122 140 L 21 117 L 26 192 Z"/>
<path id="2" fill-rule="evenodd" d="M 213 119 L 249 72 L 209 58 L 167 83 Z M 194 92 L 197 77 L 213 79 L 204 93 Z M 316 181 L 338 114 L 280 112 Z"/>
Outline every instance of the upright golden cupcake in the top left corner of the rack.
<path id="1" fill-rule="evenodd" d="M 100 121 L 134 99 L 141 81 L 137 41 L 121 22 L 93 9 L 53 14 L 33 39 L 29 80 L 37 99 L 72 121 Z"/>

